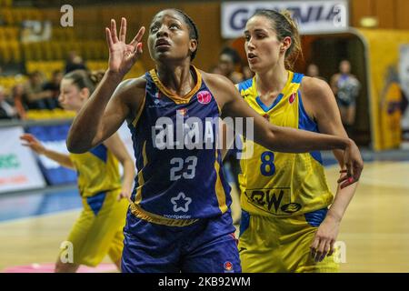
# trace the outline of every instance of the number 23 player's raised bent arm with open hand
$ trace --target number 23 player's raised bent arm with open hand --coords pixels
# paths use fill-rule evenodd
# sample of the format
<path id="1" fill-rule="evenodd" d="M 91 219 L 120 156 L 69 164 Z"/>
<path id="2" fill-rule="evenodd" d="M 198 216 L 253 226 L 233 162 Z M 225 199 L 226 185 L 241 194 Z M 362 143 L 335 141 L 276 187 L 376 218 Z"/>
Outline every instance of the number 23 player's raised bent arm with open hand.
<path id="1" fill-rule="evenodd" d="M 70 128 L 67 147 L 73 153 L 84 153 L 113 135 L 127 116 L 137 112 L 145 95 L 145 87 L 138 91 L 133 90 L 135 86 L 126 81 L 119 85 L 142 54 L 141 39 L 145 27 L 141 27 L 128 45 L 125 44 L 125 18 L 122 18 L 119 38 L 115 20 L 111 20 L 111 28 L 105 28 L 105 32 L 109 47 L 108 70 Z M 135 82 L 137 87 L 144 80 L 139 78 Z"/>

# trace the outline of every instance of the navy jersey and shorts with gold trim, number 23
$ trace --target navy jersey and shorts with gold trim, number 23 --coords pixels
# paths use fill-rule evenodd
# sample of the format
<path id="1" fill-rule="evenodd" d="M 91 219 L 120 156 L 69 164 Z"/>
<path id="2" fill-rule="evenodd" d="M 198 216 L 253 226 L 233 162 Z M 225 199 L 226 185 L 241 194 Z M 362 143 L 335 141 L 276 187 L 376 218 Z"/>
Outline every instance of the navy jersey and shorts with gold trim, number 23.
<path id="1" fill-rule="evenodd" d="M 230 186 L 216 148 L 220 109 L 201 73 L 195 87 L 172 94 L 155 70 L 129 124 L 135 190 L 125 226 L 123 272 L 238 272 Z"/>

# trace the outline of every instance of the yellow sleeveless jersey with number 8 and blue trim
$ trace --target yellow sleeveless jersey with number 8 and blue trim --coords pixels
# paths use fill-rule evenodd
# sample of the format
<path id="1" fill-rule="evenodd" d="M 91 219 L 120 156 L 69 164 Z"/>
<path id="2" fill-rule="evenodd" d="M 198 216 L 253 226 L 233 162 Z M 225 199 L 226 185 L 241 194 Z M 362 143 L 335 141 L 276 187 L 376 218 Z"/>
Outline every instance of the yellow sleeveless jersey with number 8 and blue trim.
<path id="1" fill-rule="evenodd" d="M 288 71 L 288 81 L 273 105 L 264 105 L 257 94 L 255 78 L 237 85 L 244 100 L 274 125 L 318 132 L 316 123 L 305 113 L 298 90 L 302 74 Z M 275 153 L 253 141 L 253 155 L 241 160 L 239 176 L 242 208 L 260 216 L 298 216 L 329 206 L 333 194 L 324 176 L 320 152 Z"/>

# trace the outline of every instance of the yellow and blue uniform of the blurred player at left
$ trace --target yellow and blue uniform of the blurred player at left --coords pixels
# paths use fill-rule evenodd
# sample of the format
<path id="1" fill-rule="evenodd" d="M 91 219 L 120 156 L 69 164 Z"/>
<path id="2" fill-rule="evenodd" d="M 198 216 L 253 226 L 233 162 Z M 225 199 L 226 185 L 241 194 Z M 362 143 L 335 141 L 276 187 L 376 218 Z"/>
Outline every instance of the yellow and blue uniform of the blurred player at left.
<path id="1" fill-rule="evenodd" d="M 106 255 L 114 262 L 124 246 L 126 199 L 121 193 L 118 161 L 103 144 L 84 154 L 70 154 L 78 174 L 78 188 L 84 209 L 67 241 L 74 246 L 74 263 L 97 266 Z"/>

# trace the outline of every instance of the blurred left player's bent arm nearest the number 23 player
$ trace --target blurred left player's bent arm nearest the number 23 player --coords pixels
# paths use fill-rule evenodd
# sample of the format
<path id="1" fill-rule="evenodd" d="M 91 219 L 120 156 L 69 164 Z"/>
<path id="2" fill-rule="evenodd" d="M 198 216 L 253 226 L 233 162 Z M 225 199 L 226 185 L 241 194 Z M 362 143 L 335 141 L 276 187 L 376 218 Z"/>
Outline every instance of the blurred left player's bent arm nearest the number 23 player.
<path id="1" fill-rule="evenodd" d="M 124 143 L 117 133 L 106 139 L 104 145 L 114 154 L 114 156 L 124 167 L 122 192 L 118 198 L 127 198 L 129 200 L 135 177 L 134 162 L 132 161 L 131 156 L 129 156 Z"/>

